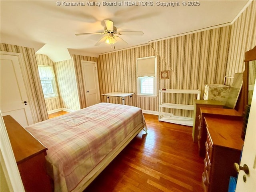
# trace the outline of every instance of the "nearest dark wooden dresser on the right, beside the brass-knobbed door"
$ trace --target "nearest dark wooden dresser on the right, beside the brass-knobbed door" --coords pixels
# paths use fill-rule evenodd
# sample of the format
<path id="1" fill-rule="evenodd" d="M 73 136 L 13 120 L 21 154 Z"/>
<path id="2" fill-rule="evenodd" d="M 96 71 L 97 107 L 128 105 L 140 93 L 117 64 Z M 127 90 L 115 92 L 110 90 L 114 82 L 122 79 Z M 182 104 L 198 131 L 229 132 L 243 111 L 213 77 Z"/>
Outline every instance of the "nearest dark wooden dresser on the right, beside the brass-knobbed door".
<path id="1" fill-rule="evenodd" d="M 206 154 L 202 184 L 204 192 L 227 192 L 230 176 L 236 177 L 234 162 L 240 161 L 242 120 L 205 116 Z"/>

